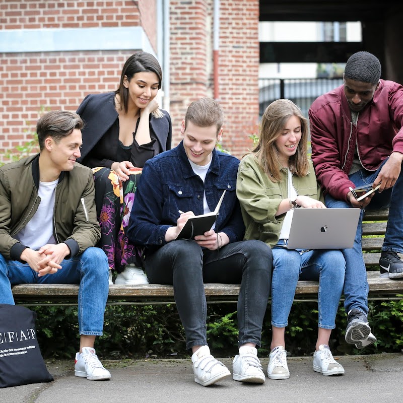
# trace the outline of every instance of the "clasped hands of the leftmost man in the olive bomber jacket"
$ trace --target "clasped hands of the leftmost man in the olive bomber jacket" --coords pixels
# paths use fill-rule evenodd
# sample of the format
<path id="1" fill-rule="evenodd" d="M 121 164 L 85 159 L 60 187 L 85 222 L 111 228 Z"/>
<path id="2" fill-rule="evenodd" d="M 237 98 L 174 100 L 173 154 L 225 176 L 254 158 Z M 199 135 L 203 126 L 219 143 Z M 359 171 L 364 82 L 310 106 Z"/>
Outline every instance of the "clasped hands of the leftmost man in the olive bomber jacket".
<path id="1" fill-rule="evenodd" d="M 57 245 L 46 244 L 39 250 L 25 248 L 21 253 L 21 260 L 38 273 L 38 277 L 54 274 L 61 268 L 60 263 L 70 254 L 70 248 L 65 243 Z"/>

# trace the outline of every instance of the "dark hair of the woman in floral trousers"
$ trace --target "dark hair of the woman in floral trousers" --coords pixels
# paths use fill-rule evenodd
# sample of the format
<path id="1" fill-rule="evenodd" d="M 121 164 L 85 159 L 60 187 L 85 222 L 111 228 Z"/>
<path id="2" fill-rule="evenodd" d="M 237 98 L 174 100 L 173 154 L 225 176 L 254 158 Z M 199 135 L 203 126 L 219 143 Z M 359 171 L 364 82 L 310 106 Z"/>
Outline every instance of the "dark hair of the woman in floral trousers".
<path id="1" fill-rule="evenodd" d="M 115 94 L 119 95 L 120 106 L 127 113 L 129 90 L 123 85 L 124 76 L 130 81 L 136 73 L 140 72 L 152 72 L 158 77 L 158 89 L 161 89 L 162 85 L 162 69 L 158 60 L 147 52 L 137 52 L 132 54 L 124 63 L 122 73 L 120 74 L 119 88 L 115 91 Z"/>

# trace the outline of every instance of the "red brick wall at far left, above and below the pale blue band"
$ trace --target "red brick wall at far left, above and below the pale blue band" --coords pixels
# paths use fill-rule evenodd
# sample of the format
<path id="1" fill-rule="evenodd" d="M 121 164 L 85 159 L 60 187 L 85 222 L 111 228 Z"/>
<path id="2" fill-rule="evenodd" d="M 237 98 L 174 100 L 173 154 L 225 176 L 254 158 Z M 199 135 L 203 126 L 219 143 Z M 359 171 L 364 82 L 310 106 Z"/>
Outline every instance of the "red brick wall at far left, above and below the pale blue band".
<path id="1" fill-rule="evenodd" d="M 133 27 L 143 22 L 156 49 L 157 29 L 151 24 L 155 5 L 153 0 L 3 0 L 0 24 L 9 30 Z M 125 60 L 137 50 L 0 53 L 0 161 L 7 160 L 5 152 L 32 138 L 43 110 L 76 110 L 87 94 L 114 91 Z"/>

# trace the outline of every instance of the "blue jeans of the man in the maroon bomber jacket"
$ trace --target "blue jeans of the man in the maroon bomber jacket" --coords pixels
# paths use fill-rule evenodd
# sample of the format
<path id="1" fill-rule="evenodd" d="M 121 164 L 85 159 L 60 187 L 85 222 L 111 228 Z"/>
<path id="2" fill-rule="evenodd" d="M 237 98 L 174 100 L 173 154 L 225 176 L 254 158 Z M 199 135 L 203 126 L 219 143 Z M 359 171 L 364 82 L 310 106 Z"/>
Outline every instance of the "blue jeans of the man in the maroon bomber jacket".
<path id="1" fill-rule="evenodd" d="M 383 161 L 382 165 L 374 172 L 362 169 L 350 175 L 349 179 L 356 187 L 372 183 L 386 161 L 387 160 Z M 398 253 L 403 252 L 403 209 L 401 208 L 401 200 L 403 200 L 402 173 L 400 173 L 392 188 L 384 190 L 382 193 L 375 192 L 368 206 L 370 209 L 380 209 L 389 205 L 389 218 L 382 250 L 393 250 Z M 347 201 L 334 199 L 329 194 L 325 196 L 325 204 L 330 208 L 352 207 Z M 344 258 L 346 259 L 344 308 L 346 312 L 356 308 L 368 315 L 367 271 L 361 249 L 362 219 L 363 212 L 361 212 L 360 215 L 353 247 L 342 250 Z"/>

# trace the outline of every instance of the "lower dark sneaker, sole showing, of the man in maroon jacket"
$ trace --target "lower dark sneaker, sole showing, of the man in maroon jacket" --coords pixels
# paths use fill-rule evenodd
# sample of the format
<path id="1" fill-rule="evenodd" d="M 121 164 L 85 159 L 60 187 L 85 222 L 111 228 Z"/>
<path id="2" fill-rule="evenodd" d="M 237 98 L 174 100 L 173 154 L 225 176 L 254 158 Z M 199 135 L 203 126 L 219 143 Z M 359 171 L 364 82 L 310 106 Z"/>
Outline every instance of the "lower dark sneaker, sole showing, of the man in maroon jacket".
<path id="1" fill-rule="evenodd" d="M 347 314 L 346 342 L 355 344 L 357 349 L 363 349 L 376 342 L 376 337 L 371 333 L 367 315 L 359 309 L 350 309 Z"/>

